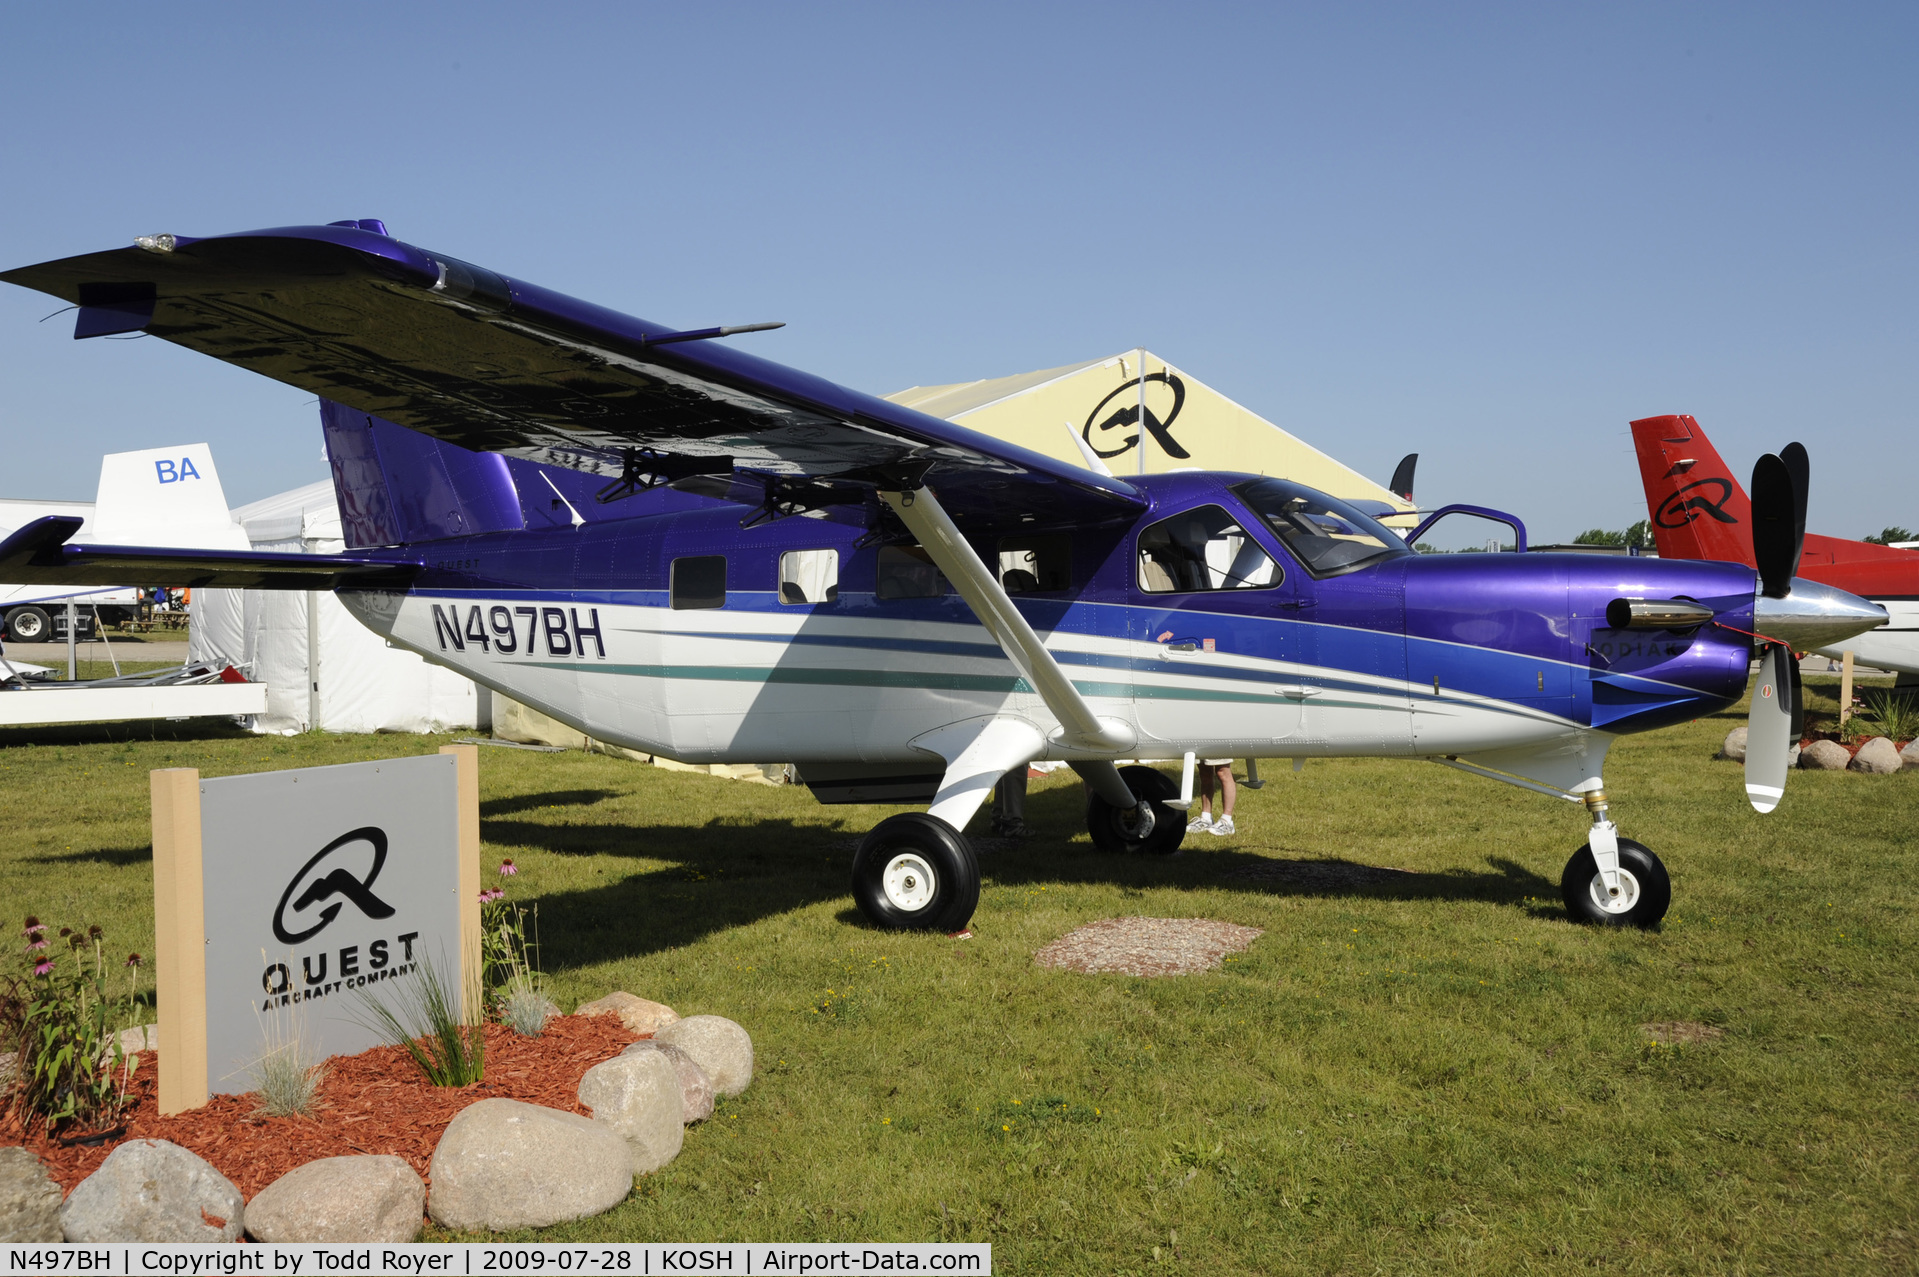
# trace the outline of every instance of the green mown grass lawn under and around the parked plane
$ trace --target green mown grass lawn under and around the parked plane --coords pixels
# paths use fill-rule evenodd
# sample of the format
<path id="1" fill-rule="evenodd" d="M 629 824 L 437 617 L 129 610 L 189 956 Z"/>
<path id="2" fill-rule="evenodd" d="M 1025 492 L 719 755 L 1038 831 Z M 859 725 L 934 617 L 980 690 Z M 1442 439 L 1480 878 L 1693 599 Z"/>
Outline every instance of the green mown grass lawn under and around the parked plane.
<path id="1" fill-rule="evenodd" d="M 1274 762 L 1240 835 L 1165 860 L 1096 855 L 1077 782 L 1034 782 L 1042 835 L 983 860 L 952 941 L 850 908 L 892 808 L 486 749 L 486 855 L 539 901 L 560 1002 L 629 989 L 760 1054 L 668 1169 L 537 1237 L 990 1241 L 1004 1273 L 1911 1271 L 1919 774 L 1800 772 L 1756 816 L 1710 760 L 1737 722 L 1612 753 L 1614 816 L 1673 876 L 1658 933 L 1564 920 L 1579 808 L 1430 764 Z M 148 768 L 441 743 L 0 732 L 0 895 L 150 952 Z M 1123 914 L 1267 933 L 1211 976 L 1032 964 Z M 1675 1020 L 1723 1037 L 1641 1029 Z"/>

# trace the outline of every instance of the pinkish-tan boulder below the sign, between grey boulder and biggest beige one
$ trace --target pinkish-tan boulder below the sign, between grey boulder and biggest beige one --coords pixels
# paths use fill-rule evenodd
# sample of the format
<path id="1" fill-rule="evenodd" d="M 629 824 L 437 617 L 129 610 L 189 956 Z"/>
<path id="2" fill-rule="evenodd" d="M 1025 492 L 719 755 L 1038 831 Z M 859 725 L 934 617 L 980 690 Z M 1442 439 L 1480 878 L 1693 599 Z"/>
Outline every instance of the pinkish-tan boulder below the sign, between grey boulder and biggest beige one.
<path id="1" fill-rule="evenodd" d="M 320 1158 L 296 1166 L 246 1204 L 263 1242 L 411 1242 L 426 1183 L 395 1156 Z"/>

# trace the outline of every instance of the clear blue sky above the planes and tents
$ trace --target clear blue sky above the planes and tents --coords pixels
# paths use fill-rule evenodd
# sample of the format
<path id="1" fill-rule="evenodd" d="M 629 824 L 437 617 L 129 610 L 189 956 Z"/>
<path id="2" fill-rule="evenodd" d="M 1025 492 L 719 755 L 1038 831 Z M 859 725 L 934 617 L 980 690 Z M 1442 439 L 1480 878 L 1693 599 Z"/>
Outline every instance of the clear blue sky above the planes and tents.
<path id="1" fill-rule="evenodd" d="M 1627 419 L 1812 526 L 1919 524 L 1919 8 L 15 6 L 6 265 L 384 217 L 860 390 L 1148 346 L 1535 540 L 1645 517 Z M 207 440 L 324 478 L 311 396 L 0 288 L 0 495 Z"/>

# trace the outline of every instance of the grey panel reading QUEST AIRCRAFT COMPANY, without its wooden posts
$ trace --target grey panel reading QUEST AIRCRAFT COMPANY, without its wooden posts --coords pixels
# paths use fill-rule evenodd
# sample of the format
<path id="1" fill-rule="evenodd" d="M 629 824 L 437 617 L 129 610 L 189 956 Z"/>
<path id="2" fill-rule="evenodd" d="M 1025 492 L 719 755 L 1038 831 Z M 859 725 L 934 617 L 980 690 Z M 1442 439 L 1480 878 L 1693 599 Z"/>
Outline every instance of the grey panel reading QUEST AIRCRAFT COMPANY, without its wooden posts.
<path id="1" fill-rule="evenodd" d="M 451 755 L 201 782 L 207 1077 L 249 1091 L 272 1041 L 378 1045 L 365 1000 L 407 1006 L 422 968 L 461 979 Z M 276 1035 L 276 1037 L 274 1037 Z"/>

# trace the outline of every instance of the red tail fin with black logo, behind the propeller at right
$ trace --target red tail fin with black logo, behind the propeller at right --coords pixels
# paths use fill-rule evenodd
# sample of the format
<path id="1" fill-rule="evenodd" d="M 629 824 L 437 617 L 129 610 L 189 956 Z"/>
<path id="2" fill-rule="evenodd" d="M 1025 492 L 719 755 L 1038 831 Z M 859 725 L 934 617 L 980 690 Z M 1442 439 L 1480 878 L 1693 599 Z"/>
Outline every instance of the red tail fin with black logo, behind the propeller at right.
<path id="1" fill-rule="evenodd" d="M 1752 503 L 1691 417 L 1633 422 L 1639 478 L 1660 559 L 1752 565 Z"/>

